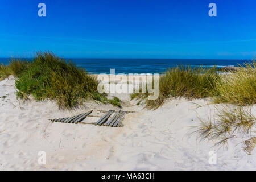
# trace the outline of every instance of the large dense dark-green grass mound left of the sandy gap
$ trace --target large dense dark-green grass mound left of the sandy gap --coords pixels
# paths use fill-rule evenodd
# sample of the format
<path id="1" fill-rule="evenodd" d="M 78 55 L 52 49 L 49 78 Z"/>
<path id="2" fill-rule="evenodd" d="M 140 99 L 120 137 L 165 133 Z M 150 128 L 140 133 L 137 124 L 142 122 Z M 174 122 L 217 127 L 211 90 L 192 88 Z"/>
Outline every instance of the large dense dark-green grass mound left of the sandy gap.
<path id="1" fill-rule="evenodd" d="M 96 77 L 52 52 L 39 51 L 32 61 L 13 59 L 9 65 L 1 65 L 0 75 L 16 77 L 17 98 L 53 100 L 61 109 L 75 109 L 87 99 L 121 106 L 117 99 L 108 100 L 97 92 Z"/>

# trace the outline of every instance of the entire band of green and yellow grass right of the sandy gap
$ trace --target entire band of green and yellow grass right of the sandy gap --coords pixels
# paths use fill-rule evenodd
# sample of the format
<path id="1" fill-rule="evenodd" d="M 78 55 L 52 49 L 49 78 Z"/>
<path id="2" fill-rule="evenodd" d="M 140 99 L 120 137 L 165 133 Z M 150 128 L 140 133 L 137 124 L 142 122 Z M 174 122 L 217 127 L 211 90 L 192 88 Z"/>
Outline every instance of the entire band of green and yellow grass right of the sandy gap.
<path id="1" fill-rule="evenodd" d="M 188 99 L 209 97 L 215 103 L 230 103 L 240 106 L 256 103 L 255 61 L 240 65 L 236 71 L 220 74 L 216 67 L 191 68 L 177 65 L 159 78 L 159 97 L 146 100 L 148 109 L 156 109 L 167 98 Z M 148 94 L 131 94 L 131 99 L 147 98 Z"/>

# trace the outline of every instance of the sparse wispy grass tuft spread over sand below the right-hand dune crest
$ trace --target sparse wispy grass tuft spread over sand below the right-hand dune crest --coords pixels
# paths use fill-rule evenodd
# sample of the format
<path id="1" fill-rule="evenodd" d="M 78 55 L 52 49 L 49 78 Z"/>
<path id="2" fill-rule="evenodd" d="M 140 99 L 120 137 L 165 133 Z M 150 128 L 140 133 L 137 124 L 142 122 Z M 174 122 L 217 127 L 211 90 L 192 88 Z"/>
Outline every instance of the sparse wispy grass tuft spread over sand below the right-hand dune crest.
<path id="1" fill-rule="evenodd" d="M 214 118 L 201 119 L 193 133 L 201 139 L 212 140 L 216 145 L 227 146 L 228 139 L 236 137 L 236 133 L 249 134 L 255 126 L 256 117 L 251 110 L 241 106 L 222 107 L 217 109 Z"/>

